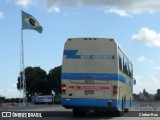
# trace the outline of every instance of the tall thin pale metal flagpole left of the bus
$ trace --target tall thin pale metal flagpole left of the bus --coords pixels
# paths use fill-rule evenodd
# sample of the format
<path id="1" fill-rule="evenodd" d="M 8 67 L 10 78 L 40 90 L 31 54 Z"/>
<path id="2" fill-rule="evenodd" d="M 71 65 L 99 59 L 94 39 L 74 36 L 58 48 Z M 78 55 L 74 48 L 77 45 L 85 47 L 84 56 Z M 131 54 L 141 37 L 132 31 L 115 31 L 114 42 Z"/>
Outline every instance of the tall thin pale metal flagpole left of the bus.
<path id="1" fill-rule="evenodd" d="M 21 10 L 22 13 L 22 10 Z M 21 72 L 22 72 L 22 92 L 23 92 L 23 105 L 27 105 L 26 99 L 26 78 L 25 78 L 25 66 L 24 66 L 24 45 L 23 45 L 23 29 L 21 27 Z"/>

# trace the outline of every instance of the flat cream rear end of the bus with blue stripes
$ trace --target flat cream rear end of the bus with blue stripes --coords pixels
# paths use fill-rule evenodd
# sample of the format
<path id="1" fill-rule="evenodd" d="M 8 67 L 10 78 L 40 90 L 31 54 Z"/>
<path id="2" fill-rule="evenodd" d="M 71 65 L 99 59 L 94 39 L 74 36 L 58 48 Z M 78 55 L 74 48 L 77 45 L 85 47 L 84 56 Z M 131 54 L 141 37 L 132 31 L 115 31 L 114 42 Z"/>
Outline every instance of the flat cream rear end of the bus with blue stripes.
<path id="1" fill-rule="evenodd" d="M 113 39 L 72 38 L 65 43 L 62 99 L 77 114 L 117 109 L 117 45 Z"/>

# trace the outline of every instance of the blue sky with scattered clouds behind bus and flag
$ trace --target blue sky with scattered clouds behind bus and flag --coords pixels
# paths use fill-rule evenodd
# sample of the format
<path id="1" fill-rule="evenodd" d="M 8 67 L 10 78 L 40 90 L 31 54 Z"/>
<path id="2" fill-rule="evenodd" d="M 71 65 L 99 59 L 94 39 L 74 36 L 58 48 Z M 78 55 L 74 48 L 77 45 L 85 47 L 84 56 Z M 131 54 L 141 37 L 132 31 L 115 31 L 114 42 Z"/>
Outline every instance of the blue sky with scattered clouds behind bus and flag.
<path id="1" fill-rule="evenodd" d="M 114 38 L 133 63 L 137 84 L 160 89 L 160 1 L 158 0 L 0 0 L 0 95 L 20 96 L 21 10 L 34 16 L 42 34 L 23 30 L 25 67 L 47 73 L 62 64 L 68 38 Z"/>

